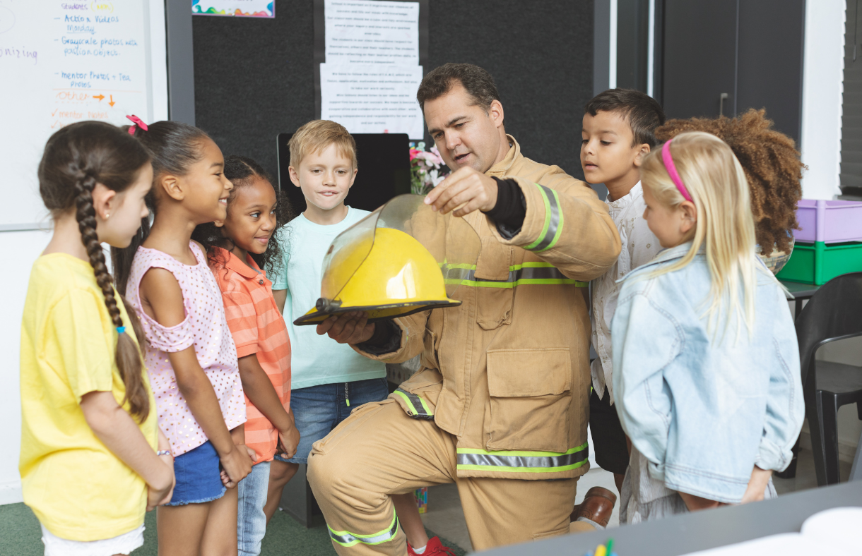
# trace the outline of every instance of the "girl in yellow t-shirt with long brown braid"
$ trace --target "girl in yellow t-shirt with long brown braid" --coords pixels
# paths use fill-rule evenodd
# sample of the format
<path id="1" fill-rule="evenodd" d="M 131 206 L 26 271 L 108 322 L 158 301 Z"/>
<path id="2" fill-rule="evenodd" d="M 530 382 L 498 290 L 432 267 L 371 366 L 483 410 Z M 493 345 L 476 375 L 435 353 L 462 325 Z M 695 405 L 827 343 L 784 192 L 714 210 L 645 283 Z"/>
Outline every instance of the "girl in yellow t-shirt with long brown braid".
<path id="1" fill-rule="evenodd" d="M 24 304 L 19 468 L 46 555 L 128 554 L 143 544 L 145 510 L 172 496 L 140 324 L 102 250 L 132 241 L 152 177 L 147 151 L 98 121 L 54 133 L 39 165 L 53 236 Z"/>

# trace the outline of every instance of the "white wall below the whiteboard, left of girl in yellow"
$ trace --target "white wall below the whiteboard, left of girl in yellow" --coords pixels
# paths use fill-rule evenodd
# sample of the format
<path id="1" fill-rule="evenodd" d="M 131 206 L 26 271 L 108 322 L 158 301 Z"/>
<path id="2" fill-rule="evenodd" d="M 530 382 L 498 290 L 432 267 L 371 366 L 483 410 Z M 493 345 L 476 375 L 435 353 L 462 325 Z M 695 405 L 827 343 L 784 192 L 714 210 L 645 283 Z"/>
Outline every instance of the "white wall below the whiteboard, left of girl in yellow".
<path id="1" fill-rule="evenodd" d="M 0 296 L 0 504 L 21 502 L 21 477 L 18 454 L 21 450 L 21 395 L 19 391 L 19 358 L 21 350 L 21 315 L 30 267 L 45 249 L 48 232 L 3 232 L 7 261 L 14 262 L 16 272 L 3 273 L 3 295 Z"/>

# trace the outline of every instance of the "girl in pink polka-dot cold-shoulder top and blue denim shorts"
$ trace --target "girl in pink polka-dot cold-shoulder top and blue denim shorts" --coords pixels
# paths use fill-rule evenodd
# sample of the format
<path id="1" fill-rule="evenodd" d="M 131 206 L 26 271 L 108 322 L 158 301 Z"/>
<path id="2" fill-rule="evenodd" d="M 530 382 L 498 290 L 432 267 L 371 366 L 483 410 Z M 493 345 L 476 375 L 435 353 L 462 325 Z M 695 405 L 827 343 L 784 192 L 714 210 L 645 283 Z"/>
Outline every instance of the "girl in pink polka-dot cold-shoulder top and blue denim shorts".
<path id="1" fill-rule="evenodd" d="M 177 121 L 134 133 L 153 161 L 152 227 L 114 250 L 117 289 L 141 316 L 159 426 L 171 442 L 177 486 L 159 507 L 159 553 L 234 556 L 237 489 L 256 457 L 245 445 L 246 401 L 234 338 L 197 225 L 223 220 L 233 184 L 222 151 Z M 226 488 L 227 487 L 227 488 Z"/>

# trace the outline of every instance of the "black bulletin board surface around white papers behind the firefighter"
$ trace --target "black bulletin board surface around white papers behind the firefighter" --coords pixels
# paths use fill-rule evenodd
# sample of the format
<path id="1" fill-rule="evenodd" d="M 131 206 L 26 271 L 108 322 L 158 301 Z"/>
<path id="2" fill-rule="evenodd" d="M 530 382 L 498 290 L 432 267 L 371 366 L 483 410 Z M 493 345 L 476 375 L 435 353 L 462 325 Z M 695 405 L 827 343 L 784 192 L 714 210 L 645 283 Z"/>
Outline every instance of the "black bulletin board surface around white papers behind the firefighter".
<path id="1" fill-rule="evenodd" d="M 429 4 L 426 72 L 446 62 L 490 71 L 506 131 L 524 156 L 583 177 L 579 130 L 593 96 L 593 1 Z M 192 22 L 197 126 L 225 154 L 252 157 L 272 176 L 278 133 L 315 119 L 314 3 L 276 0 L 275 13 Z"/>

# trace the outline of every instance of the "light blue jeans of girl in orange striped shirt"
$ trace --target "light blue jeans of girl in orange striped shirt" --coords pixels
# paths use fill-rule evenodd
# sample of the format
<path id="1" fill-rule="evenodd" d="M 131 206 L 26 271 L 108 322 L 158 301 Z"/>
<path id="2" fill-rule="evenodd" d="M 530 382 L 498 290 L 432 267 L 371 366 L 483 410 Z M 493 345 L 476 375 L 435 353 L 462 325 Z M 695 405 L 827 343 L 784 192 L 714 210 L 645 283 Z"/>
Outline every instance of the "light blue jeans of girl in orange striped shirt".
<path id="1" fill-rule="evenodd" d="M 236 541 L 240 556 L 258 556 L 260 541 L 266 534 L 266 491 L 269 487 L 269 461 L 252 466 L 252 473 L 237 485 L 239 501 L 236 507 Z"/>

